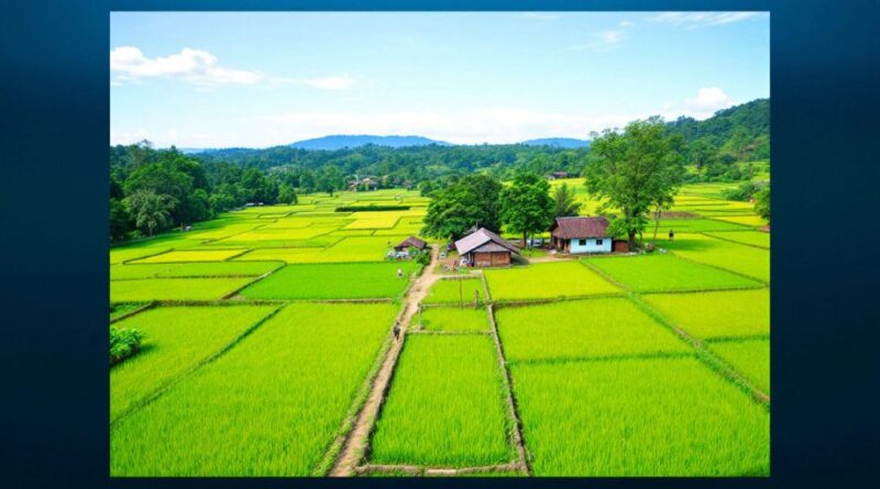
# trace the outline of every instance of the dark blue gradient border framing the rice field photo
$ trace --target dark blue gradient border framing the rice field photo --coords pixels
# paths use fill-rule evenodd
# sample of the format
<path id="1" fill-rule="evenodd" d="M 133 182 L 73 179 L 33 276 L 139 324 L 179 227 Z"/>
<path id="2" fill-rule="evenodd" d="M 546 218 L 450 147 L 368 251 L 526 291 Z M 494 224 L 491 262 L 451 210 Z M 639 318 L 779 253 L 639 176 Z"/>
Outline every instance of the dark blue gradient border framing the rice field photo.
<path id="1" fill-rule="evenodd" d="M 108 477 L 110 10 L 770 10 L 772 477 L 568 487 L 877 484 L 877 2 L 33 1 L 0 7 L 0 487 L 410 487 Z M 163 482 L 163 484 L 160 484 Z M 547 487 L 549 480 L 422 480 Z"/>

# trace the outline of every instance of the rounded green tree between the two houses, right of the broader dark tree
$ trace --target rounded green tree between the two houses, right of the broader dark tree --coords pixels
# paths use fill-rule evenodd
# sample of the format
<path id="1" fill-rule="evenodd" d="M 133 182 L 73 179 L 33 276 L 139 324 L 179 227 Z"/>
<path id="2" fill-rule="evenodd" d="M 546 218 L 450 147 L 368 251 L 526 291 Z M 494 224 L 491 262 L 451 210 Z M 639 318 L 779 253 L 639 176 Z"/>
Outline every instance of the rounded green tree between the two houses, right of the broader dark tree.
<path id="1" fill-rule="evenodd" d="M 550 184 L 537 174 L 520 174 L 502 188 L 499 199 L 502 223 L 512 233 L 522 233 L 522 244 L 531 248 L 528 236 L 547 231 L 553 222 Z"/>

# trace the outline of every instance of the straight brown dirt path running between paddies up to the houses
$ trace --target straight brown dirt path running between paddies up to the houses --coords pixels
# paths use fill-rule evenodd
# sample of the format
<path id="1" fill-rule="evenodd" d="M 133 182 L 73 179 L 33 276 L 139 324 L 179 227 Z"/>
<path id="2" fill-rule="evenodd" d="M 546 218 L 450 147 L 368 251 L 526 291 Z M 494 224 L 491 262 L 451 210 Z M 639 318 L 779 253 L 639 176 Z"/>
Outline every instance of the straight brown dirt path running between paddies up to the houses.
<path id="1" fill-rule="evenodd" d="M 376 421 L 378 409 L 382 405 L 382 400 L 388 388 L 388 382 L 394 371 L 394 366 L 397 364 L 397 357 L 400 355 L 400 348 L 404 345 L 403 335 L 406 334 L 413 316 L 418 312 L 419 302 L 428 293 L 431 285 L 436 282 L 440 276 L 435 273 L 437 265 L 437 257 L 440 246 L 436 245 L 431 249 L 431 264 L 425 267 L 421 277 L 417 278 L 413 287 L 407 293 L 406 301 L 404 302 L 404 314 L 400 318 L 400 341 L 395 341 L 385 360 L 382 363 L 378 374 L 373 379 L 373 386 L 370 389 L 370 396 L 366 398 L 363 408 L 358 413 L 358 419 L 354 422 L 354 427 L 349 433 L 345 443 L 342 445 L 342 451 L 330 469 L 330 477 L 348 477 L 354 474 L 358 463 L 361 462 L 364 448 L 370 437 L 370 432 L 373 430 L 373 424 Z"/>

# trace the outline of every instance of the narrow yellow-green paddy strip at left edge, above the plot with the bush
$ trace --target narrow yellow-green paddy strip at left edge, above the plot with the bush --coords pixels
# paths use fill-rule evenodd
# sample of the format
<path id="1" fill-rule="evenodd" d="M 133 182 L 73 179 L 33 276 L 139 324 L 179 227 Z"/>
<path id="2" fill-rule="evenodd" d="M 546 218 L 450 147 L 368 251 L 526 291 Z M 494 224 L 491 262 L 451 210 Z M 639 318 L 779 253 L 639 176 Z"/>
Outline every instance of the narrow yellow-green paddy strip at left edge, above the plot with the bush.
<path id="1" fill-rule="evenodd" d="M 218 300 L 253 278 L 150 278 L 110 281 L 110 302 Z"/>

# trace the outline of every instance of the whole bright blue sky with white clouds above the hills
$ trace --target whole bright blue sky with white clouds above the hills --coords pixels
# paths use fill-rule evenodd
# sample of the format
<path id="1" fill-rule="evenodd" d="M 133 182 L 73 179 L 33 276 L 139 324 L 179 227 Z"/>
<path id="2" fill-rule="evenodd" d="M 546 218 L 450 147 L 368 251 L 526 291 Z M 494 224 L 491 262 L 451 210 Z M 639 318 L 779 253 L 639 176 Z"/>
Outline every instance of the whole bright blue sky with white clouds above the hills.
<path id="1" fill-rule="evenodd" d="M 766 12 L 113 12 L 110 143 L 588 138 L 770 96 Z"/>

